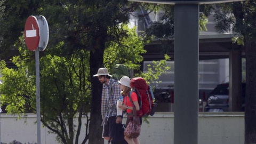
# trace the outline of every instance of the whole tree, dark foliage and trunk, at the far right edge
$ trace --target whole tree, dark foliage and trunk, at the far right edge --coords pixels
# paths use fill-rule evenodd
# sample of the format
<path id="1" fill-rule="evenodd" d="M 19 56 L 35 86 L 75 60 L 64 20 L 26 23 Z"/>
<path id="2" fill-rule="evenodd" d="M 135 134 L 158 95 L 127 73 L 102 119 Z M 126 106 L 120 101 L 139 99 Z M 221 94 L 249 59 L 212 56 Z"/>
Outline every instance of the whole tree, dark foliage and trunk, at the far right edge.
<path id="1" fill-rule="evenodd" d="M 246 51 L 245 143 L 256 143 L 256 2 L 247 0 L 218 6 L 217 28 L 220 32 L 233 30 L 238 34 L 234 39 Z"/>

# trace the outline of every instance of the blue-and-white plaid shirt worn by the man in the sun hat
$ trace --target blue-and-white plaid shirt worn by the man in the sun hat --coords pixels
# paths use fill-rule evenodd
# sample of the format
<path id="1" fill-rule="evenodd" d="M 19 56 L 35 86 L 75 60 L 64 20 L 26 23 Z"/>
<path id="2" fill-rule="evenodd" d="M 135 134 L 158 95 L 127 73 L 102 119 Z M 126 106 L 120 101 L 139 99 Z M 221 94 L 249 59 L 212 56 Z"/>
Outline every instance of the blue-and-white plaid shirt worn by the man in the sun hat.
<path id="1" fill-rule="evenodd" d="M 110 87 L 112 85 L 112 92 L 109 95 Z M 119 83 L 110 78 L 109 82 L 103 84 L 101 95 L 101 116 L 104 119 L 105 116 L 116 116 L 116 105 L 120 93 Z M 109 110 L 108 110 L 109 108 Z"/>

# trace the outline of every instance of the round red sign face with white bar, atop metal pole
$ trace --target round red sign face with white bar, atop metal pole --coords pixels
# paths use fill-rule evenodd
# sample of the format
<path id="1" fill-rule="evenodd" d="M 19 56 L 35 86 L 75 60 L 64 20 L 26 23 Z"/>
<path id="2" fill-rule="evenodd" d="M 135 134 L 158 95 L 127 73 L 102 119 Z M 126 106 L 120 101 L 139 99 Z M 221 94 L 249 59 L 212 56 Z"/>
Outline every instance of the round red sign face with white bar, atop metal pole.
<path id="1" fill-rule="evenodd" d="M 35 51 L 38 49 L 40 40 L 39 25 L 37 18 L 33 15 L 29 16 L 25 24 L 25 42 L 29 51 Z"/>

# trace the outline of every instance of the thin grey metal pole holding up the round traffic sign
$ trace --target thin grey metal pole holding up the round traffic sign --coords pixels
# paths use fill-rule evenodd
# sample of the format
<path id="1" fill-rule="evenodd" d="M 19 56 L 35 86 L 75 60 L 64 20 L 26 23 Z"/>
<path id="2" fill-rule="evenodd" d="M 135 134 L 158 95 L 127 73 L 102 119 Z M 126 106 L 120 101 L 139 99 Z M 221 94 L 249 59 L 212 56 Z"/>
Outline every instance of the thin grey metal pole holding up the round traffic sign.
<path id="1" fill-rule="evenodd" d="M 36 117 L 37 117 L 37 143 L 41 144 L 40 121 L 40 85 L 39 85 L 39 50 L 36 49 Z"/>

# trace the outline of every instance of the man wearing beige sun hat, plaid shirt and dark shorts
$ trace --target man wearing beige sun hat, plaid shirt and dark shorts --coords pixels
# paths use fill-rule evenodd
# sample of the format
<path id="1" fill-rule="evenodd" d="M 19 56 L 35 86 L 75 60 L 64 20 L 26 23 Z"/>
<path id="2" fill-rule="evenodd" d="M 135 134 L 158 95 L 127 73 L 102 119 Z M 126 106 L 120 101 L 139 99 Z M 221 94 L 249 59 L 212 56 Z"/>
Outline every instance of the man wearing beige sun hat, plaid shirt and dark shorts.
<path id="1" fill-rule="evenodd" d="M 94 77 L 98 77 L 102 86 L 101 95 L 101 116 L 103 119 L 103 134 L 102 137 L 111 143 L 123 143 L 123 135 L 117 136 L 117 132 L 123 130 L 122 116 L 117 116 L 116 105 L 119 96 L 121 95 L 119 84 L 109 74 L 107 68 L 100 68 Z"/>

